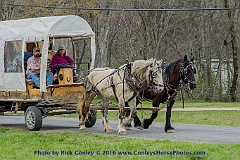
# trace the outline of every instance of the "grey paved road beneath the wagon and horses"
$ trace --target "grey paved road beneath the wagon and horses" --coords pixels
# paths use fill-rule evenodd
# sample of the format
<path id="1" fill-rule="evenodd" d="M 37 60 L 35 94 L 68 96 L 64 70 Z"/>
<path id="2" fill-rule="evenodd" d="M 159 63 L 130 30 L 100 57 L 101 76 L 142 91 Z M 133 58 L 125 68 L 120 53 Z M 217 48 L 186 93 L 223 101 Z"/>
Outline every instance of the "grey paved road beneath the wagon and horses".
<path id="1" fill-rule="evenodd" d="M 117 121 L 110 121 L 114 133 L 106 134 L 100 120 L 92 128 L 87 129 L 87 133 L 103 135 L 118 135 Z M 0 116 L 0 126 L 24 129 L 23 116 Z M 165 133 L 163 123 L 153 123 L 147 130 L 133 128 L 127 131 L 127 135 L 122 137 L 136 137 L 146 139 L 159 139 L 171 141 L 190 141 L 202 143 L 227 143 L 240 144 L 240 127 L 223 127 L 194 124 L 173 124 L 176 133 Z M 44 131 L 71 131 L 79 132 L 77 118 L 47 117 L 43 119 L 43 126 L 40 132 Z"/>

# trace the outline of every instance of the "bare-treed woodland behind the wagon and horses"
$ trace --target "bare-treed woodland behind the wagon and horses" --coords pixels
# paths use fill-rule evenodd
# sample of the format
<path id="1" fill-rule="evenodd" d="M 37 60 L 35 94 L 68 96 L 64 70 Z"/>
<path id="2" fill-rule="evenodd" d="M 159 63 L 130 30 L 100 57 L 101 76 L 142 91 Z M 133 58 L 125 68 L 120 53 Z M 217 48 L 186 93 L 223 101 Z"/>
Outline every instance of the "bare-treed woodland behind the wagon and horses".
<path id="1" fill-rule="evenodd" d="M 126 59 L 157 58 L 168 64 L 185 54 L 194 57 L 197 89 L 192 99 L 240 100 L 239 0 L 0 0 L 0 4 L 1 20 L 68 14 L 84 18 L 96 33 L 98 67 L 115 68 Z"/>

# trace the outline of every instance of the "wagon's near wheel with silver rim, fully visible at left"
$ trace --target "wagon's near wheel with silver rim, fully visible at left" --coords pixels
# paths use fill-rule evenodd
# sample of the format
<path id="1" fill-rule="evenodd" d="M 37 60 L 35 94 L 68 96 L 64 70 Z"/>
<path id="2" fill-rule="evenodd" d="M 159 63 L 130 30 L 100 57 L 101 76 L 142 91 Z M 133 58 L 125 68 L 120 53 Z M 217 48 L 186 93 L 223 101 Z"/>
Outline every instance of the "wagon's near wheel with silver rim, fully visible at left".
<path id="1" fill-rule="evenodd" d="M 42 112 L 36 106 L 30 106 L 25 112 L 25 124 L 29 131 L 38 131 L 42 127 Z"/>

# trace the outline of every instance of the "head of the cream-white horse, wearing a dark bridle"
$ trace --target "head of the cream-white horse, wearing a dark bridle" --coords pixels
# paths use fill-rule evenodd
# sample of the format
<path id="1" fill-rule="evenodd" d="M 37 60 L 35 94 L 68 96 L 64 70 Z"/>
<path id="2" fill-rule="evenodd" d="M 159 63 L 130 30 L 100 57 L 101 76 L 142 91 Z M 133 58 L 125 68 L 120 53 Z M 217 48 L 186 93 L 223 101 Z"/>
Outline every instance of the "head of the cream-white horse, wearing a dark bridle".
<path id="1" fill-rule="evenodd" d="M 161 65 L 162 60 L 152 59 L 148 68 L 148 81 L 154 92 L 161 92 L 164 89 Z"/>

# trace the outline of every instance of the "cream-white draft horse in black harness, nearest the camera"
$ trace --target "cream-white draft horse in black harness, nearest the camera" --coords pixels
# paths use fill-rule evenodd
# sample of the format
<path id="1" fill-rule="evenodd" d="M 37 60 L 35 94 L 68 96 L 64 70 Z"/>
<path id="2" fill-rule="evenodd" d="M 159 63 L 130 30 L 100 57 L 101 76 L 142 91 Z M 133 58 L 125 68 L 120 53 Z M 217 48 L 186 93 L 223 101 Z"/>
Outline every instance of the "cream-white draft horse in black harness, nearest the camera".
<path id="1" fill-rule="evenodd" d="M 115 97 L 119 108 L 118 134 L 126 134 L 125 125 L 131 123 L 136 115 L 136 96 L 149 86 L 155 91 L 163 90 L 162 61 L 155 59 L 136 60 L 117 69 L 96 68 L 90 71 L 85 83 L 85 92 L 77 111 L 80 114 L 80 130 L 85 130 L 85 122 L 89 115 L 90 103 L 95 96 L 103 100 L 102 118 L 105 132 L 112 132 L 107 114 L 109 99 Z M 124 117 L 124 107 L 128 104 L 130 114 Z"/>

